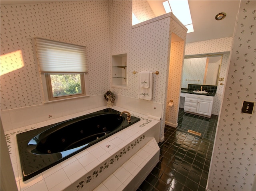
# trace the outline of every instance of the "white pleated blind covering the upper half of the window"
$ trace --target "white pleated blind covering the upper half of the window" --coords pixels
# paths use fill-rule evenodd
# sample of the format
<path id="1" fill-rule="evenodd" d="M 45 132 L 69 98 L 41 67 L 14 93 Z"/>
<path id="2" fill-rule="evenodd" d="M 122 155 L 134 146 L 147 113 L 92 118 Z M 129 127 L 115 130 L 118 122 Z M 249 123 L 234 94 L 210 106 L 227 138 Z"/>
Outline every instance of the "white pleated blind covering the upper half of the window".
<path id="1" fill-rule="evenodd" d="M 35 38 L 41 73 L 87 73 L 86 47 Z"/>

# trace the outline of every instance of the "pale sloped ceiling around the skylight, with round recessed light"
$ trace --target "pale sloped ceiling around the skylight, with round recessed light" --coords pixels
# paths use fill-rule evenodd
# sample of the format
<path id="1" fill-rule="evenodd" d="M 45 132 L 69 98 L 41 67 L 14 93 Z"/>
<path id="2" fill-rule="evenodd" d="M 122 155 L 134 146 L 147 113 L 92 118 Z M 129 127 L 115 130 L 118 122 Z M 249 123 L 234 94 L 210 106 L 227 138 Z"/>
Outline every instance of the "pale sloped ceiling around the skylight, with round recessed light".
<path id="1" fill-rule="evenodd" d="M 158 12 L 157 14 L 159 15 L 159 12 L 164 11 L 162 7 L 162 2 L 164 1 L 149 0 L 148 2 L 153 11 Z M 1 4 L 27 4 L 54 2 L 54 0 L 1 0 L 0 2 Z M 239 0 L 188 0 L 188 4 L 194 32 L 187 33 L 186 43 L 233 36 L 240 4 Z M 226 13 L 226 18 L 220 21 L 215 20 L 216 14 L 221 12 Z"/>

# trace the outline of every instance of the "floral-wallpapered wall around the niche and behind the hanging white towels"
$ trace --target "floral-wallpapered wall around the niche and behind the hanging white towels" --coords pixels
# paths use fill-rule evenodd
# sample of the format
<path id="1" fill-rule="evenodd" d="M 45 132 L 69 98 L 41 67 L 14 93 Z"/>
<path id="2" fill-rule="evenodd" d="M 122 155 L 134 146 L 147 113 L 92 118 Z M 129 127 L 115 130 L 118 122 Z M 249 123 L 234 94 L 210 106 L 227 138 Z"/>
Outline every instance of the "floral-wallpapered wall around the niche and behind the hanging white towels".
<path id="1" fill-rule="evenodd" d="M 159 75 L 153 75 L 152 102 L 163 104 L 160 132 L 160 138 L 162 138 L 164 137 L 171 33 L 174 32 L 182 39 L 186 39 L 186 30 L 174 19 L 174 16 L 132 28 L 132 1 L 110 1 L 109 18 L 110 55 L 127 53 L 128 89 L 112 88 L 112 90 L 121 96 L 138 98 L 138 74 L 134 75 L 132 72 L 159 71 Z M 176 73 L 172 75 L 174 78 L 180 78 Z M 177 93 L 179 94 L 180 91 Z M 178 99 L 174 99 L 178 103 Z M 138 100 L 138 102 L 143 101 Z M 149 105 L 153 107 L 152 104 Z M 141 109 L 147 112 L 148 108 Z M 178 116 L 178 110 L 175 112 Z"/>

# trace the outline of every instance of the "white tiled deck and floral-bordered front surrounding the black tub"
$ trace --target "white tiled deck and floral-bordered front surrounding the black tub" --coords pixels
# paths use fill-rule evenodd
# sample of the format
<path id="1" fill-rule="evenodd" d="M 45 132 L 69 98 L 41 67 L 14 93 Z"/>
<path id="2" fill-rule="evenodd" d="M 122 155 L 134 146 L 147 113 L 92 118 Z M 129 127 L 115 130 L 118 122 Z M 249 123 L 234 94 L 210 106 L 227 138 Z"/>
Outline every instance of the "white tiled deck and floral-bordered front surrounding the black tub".
<path id="1" fill-rule="evenodd" d="M 58 163 L 54 167 L 51 167 L 35 177 L 32 177 L 27 181 L 22 181 L 22 171 L 16 140 L 17 133 L 54 124 L 62 119 L 66 120 L 76 116 L 82 116 L 84 114 L 102 110 L 104 108 L 106 108 L 106 106 L 86 110 L 68 116 L 62 116 L 60 118 L 54 118 L 52 120 L 39 122 L 29 126 L 23 126 L 14 130 L 5 131 L 18 190 L 77 190 L 77 186 L 82 185 L 82 181 L 85 182 L 84 186 L 82 189 L 80 188 L 78 190 L 93 190 L 100 183 L 102 183 L 102 181 L 108 178 L 116 169 L 126 163 L 126 161 L 129 159 L 132 161 L 132 156 L 134 156 L 134 154 L 138 152 L 144 145 L 146 145 L 152 138 L 155 138 L 156 142 L 159 142 L 160 121 L 148 118 L 146 115 L 139 114 L 128 109 L 113 106 L 113 109 L 120 112 L 128 110 L 132 116 L 139 117 L 141 120 L 87 148 L 86 150 L 83 150 L 82 152 L 66 159 L 65 161 Z M 152 151 L 153 150 L 154 149 L 152 149 Z M 149 153 L 150 150 L 147 152 Z M 120 156 L 120 154 L 122 156 Z M 139 158 L 137 157 L 137 159 Z M 107 170 L 100 169 L 102 166 L 104 166 Z M 98 172 L 95 173 L 97 170 Z M 100 172 L 100 170 L 102 172 Z M 88 183 L 86 183 L 86 181 L 88 181 Z"/>

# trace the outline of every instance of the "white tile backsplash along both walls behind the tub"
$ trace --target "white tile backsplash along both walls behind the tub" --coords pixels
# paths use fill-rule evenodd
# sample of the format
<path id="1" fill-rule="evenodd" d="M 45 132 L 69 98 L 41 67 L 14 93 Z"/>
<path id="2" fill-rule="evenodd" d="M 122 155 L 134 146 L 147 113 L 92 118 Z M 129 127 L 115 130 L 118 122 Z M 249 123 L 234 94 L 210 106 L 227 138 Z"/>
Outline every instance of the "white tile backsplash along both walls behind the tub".
<path id="1" fill-rule="evenodd" d="M 34 126 L 34 124 L 46 123 L 46 121 L 51 124 L 50 120 L 61 122 L 76 116 L 84 115 L 87 110 L 96 111 L 98 107 L 106 106 L 106 101 L 103 99 L 103 96 L 104 95 L 88 96 L 78 98 L 77 100 L 71 99 L 48 104 L 2 110 L 1 120 L 4 131 L 16 131 L 17 128 L 24 128 L 24 126 L 29 127 L 31 125 Z M 126 110 L 131 110 L 146 116 L 150 115 L 155 116 L 156 118 L 162 118 L 161 103 L 116 94 L 116 101 L 114 104 L 120 108 L 126 108 Z M 94 110 L 94 108 L 96 108 L 96 110 Z"/>

